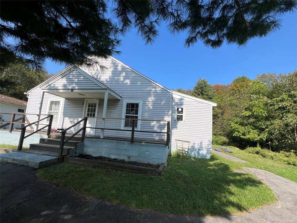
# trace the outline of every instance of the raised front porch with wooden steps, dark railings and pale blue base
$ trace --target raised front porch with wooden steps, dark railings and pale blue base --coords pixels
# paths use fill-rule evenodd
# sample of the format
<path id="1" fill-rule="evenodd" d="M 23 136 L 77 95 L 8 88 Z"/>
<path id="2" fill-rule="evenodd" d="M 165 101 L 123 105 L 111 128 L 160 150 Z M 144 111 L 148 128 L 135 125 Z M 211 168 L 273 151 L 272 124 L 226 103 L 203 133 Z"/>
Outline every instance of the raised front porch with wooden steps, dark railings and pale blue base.
<path id="1" fill-rule="evenodd" d="M 23 145 L 28 146 L 29 150 L 25 152 L 45 155 L 56 156 L 59 161 L 63 161 L 64 156 L 76 157 L 80 154 L 89 154 L 91 156 L 105 156 L 110 158 L 123 159 L 126 161 L 143 162 L 150 164 L 160 164 L 167 162 L 168 146 L 170 142 L 170 121 L 169 120 L 144 120 L 144 119 L 122 119 L 114 117 L 84 117 L 77 123 L 69 126 L 61 131 L 61 133 L 51 133 L 53 114 L 43 115 L 36 114 L 38 116 L 45 116 L 40 120 L 33 123 L 15 122 L 14 118 L 16 114 L 12 114 L 10 128 L 7 130 L 1 130 L 1 143 L 11 144 L 11 137 L 14 137 L 14 142 L 18 141 L 18 151 L 21 151 Z M 26 117 L 26 114 L 23 114 Z M 32 115 L 32 114 L 30 114 Z M 116 128 L 102 128 L 102 127 L 88 127 L 88 119 L 102 119 L 102 120 L 129 120 L 132 122 L 131 129 L 116 129 Z M 24 118 L 23 118 L 24 119 Z M 42 120 L 49 119 L 49 123 L 42 124 Z M 157 122 L 164 123 L 167 127 L 167 131 L 141 131 L 135 129 L 135 122 Z M 103 122 L 103 121 L 102 121 Z M 20 129 L 13 129 L 13 125 L 18 123 L 22 125 Z M 28 125 L 25 125 L 28 124 Z M 32 130 L 29 127 L 35 125 L 35 129 Z M 38 127 L 42 125 L 43 127 Z M 2 125 L 3 126 L 3 125 Z M 0 126 L 1 127 L 1 126 Z M 75 131 L 73 131 L 75 129 Z M 76 131 L 76 129 L 78 129 Z M 87 135 L 87 129 L 99 129 L 101 135 Z M 124 131 L 129 134 L 129 137 L 104 136 L 104 131 Z M 95 132 L 95 131 L 94 131 Z M 159 140 L 154 138 L 137 138 L 135 133 L 142 134 L 163 134 L 165 140 Z M 3 142 L 5 141 L 6 142 Z M 29 141 L 28 141 L 29 140 Z M 35 141 L 34 141 L 35 140 Z M 38 142 L 37 142 L 38 140 Z M 9 156 L 9 155 L 7 155 Z"/>

